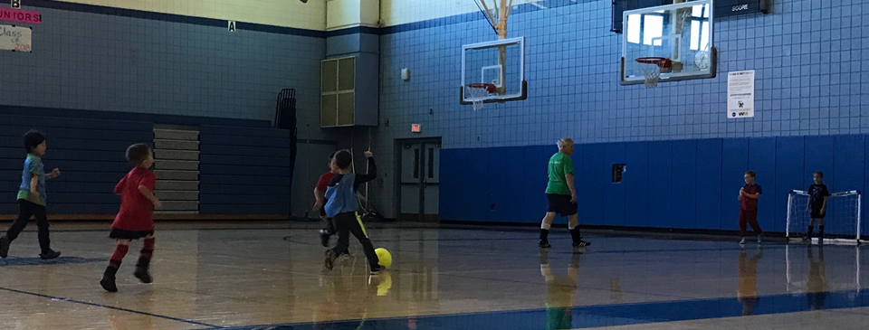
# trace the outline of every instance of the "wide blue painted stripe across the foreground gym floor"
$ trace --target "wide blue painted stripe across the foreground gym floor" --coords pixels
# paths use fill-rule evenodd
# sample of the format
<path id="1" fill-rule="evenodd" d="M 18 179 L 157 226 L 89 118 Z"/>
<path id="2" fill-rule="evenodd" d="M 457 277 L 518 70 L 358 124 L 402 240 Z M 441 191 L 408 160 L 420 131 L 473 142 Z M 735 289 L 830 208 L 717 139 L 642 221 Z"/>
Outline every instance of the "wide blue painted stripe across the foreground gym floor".
<path id="1" fill-rule="evenodd" d="M 820 300 L 818 300 L 818 296 Z M 818 302 L 820 306 L 818 305 Z M 753 299 L 721 297 L 619 305 L 539 308 L 470 314 L 405 316 L 354 321 L 284 325 L 248 325 L 227 330 L 416 330 L 442 329 L 581 329 L 598 326 L 641 325 L 733 316 L 772 315 L 869 306 L 869 289 L 826 293 L 762 296 Z"/>

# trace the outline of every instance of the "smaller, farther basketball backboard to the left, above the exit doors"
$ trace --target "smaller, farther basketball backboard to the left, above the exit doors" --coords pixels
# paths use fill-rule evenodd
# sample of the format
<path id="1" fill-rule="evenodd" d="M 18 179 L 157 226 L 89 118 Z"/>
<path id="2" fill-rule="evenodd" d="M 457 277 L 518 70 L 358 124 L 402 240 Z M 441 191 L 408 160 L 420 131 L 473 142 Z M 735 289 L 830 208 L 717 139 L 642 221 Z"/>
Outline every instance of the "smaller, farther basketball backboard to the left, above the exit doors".
<path id="1" fill-rule="evenodd" d="M 526 99 L 525 38 L 463 45 L 459 96 L 465 105 Z"/>

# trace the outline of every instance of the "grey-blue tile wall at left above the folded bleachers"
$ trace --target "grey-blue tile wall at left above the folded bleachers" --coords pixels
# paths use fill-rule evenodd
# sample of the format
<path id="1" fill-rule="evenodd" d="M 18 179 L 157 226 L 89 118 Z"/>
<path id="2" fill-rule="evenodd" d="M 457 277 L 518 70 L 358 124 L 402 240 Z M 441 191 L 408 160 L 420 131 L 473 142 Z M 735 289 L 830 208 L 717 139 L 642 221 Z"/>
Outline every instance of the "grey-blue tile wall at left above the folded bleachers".
<path id="1" fill-rule="evenodd" d="M 271 120 L 295 88 L 301 122 L 319 122 L 324 33 L 41 3 L 33 52 L 0 54 L 0 104 Z"/>

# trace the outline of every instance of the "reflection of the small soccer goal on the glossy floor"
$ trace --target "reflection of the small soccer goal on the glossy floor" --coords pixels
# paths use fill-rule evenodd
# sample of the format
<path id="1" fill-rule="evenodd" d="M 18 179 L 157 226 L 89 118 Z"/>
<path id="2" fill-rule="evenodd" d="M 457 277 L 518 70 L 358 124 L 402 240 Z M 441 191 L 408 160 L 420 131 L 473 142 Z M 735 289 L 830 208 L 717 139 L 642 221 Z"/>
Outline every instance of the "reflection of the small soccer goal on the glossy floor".
<path id="1" fill-rule="evenodd" d="M 786 245 L 788 293 L 844 291 L 859 296 L 860 247 Z"/>

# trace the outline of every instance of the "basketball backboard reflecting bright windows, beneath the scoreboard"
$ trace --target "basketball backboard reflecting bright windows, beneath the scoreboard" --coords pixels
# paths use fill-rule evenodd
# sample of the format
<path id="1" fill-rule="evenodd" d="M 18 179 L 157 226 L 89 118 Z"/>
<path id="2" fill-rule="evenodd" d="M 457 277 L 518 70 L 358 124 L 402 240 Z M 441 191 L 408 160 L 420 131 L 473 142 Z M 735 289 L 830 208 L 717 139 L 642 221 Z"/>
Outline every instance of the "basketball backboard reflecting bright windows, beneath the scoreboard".
<path id="1" fill-rule="evenodd" d="M 658 81 L 714 78 L 712 12 L 711 0 L 625 11 L 620 83 L 654 87 Z"/>

